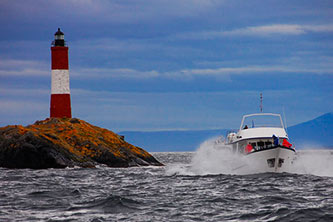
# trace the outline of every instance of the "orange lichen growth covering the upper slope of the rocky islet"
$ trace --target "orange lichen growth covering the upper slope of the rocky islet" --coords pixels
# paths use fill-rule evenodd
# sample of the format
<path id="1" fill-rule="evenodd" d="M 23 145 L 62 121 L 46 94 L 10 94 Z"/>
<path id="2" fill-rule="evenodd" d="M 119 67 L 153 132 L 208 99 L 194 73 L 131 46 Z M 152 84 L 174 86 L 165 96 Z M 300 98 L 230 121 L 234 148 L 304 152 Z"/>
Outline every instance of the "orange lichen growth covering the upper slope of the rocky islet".
<path id="1" fill-rule="evenodd" d="M 101 147 L 117 157 L 125 157 L 120 148 L 127 148 L 139 157 L 150 157 L 149 153 L 122 140 L 116 133 L 79 119 L 47 118 L 27 127 L 21 125 L 8 127 L 16 128 L 21 135 L 32 132 L 40 138 L 64 147 L 78 157 L 99 156 L 102 152 L 99 149 Z"/>

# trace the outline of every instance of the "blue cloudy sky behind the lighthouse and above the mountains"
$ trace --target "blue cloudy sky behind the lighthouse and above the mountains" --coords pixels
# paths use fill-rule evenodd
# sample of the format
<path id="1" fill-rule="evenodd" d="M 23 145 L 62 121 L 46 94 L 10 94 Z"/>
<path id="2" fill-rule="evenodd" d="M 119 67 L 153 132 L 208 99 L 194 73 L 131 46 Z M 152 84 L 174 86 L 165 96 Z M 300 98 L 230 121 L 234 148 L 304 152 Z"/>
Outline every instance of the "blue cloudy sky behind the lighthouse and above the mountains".
<path id="1" fill-rule="evenodd" d="M 112 131 L 333 111 L 331 0 L 1 0 L 0 25 L 0 126 L 49 117 L 58 27 L 73 117 Z"/>

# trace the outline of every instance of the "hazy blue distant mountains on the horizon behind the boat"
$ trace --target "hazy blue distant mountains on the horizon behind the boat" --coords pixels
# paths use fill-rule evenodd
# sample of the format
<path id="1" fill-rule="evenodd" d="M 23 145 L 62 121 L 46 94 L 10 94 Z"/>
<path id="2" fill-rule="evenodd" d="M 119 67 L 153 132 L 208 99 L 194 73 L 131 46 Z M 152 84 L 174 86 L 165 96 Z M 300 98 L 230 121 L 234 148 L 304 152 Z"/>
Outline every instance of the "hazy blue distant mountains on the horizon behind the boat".
<path id="1" fill-rule="evenodd" d="M 288 127 L 290 141 L 297 149 L 333 148 L 333 112 Z M 194 151 L 207 139 L 225 136 L 228 129 L 178 131 L 124 131 L 126 141 L 147 151 Z"/>

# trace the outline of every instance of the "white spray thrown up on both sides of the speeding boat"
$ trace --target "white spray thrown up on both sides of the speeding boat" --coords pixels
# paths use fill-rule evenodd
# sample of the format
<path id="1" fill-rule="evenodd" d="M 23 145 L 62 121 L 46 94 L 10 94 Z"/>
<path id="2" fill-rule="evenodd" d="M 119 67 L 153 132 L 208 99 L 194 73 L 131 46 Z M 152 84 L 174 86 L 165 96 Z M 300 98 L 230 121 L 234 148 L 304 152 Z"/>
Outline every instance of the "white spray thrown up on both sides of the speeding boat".
<path id="1" fill-rule="evenodd" d="M 193 154 L 189 164 L 171 165 L 166 173 L 191 176 L 258 173 L 258 168 L 246 156 L 233 153 L 230 146 L 222 145 L 220 141 L 221 138 L 206 140 Z M 333 150 L 297 151 L 297 159 L 290 173 L 333 177 Z"/>

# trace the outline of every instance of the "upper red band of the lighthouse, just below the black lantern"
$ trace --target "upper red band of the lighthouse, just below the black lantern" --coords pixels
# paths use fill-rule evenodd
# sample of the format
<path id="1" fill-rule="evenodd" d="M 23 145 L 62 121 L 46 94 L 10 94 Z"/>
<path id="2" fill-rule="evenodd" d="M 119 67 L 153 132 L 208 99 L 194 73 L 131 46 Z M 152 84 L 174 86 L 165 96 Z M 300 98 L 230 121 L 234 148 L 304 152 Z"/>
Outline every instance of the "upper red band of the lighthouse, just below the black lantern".
<path id="1" fill-rule="evenodd" d="M 68 47 L 51 47 L 52 69 L 68 69 Z"/>

